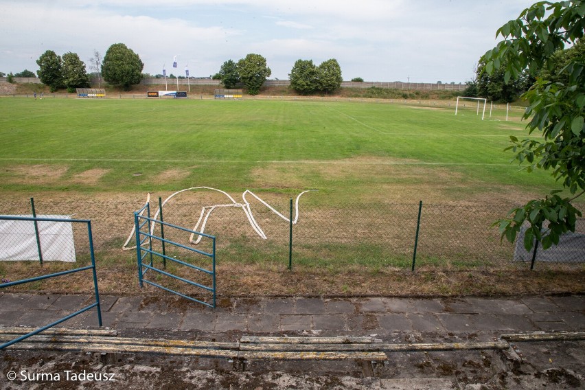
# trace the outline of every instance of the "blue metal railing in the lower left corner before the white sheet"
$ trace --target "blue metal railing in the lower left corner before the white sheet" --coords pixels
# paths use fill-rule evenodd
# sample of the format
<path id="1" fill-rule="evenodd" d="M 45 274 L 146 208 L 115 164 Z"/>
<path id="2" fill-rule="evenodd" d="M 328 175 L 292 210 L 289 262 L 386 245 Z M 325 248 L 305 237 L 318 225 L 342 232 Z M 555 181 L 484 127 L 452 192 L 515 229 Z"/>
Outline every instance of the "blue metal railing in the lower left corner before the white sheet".
<path id="1" fill-rule="evenodd" d="M 41 328 L 38 328 L 37 330 L 34 330 L 34 331 L 27 333 L 27 334 L 24 334 L 23 336 L 20 336 L 12 341 L 8 341 L 6 343 L 3 343 L 2 345 L 0 345 L 0 349 L 4 349 L 5 347 L 8 347 L 14 343 L 18 343 L 19 341 L 23 341 L 24 339 L 27 339 L 30 336 L 34 336 L 35 334 L 41 333 L 41 332 L 43 332 L 43 330 L 47 330 L 49 328 L 52 328 L 55 325 L 58 325 L 64 321 L 67 321 L 68 319 L 75 317 L 78 314 L 81 314 L 82 312 L 87 312 L 87 310 L 90 310 L 91 308 L 98 308 L 97 309 L 98 323 L 100 324 L 100 327 L 101 327 L 102 326 L 102 308 L 100 306 L 100 292 L 98 290 L 98 275 L 95 272 L 95 255 L 93 252 L 93 237 L 91 235 L 91 220 L 77 220 L 77 219 L 65 219 L 65 218 L 34 218 L 34 217 L 31 218 L 31 217 L 17 217 L 17 216 L 0 216 L 0 220 L 25 220 L 25 221 L 32 221 L 35 224 L 36 224 L 36 222 L 86 223 L 87 224 L 87 234 L 88 234 L 88 238 L 89 238 L 89 254 L 91 256 L 91 265 L 90 266 L 84 266 L 84 267 L 75 268 L 75 269 L 72 269 L 69 271 L 61 271 L 61 272 L 57 272 L 57 273 L 51 273 L 49 275 L 30 277 L 28 279 L 21 279 L 21 280 L 16 280 L 14 282 L 3 283 L 3 284 L 0 284 L 0 288 L 6 288 L 6 287 L 10 287 L 10 286 L 16 286 L 19 284 L 36 282 L 38 280 L 49 279 L 51 277 L 57 277 L 57 276 L 61 276 L 61 275 L 67 275 L 69 273 L 76 273 L 76 272 L 87 271 L 87 270 L 91 269 L 92 274 L 93 274 L 93 290 L 95 292 L 95 302 L 91 303 L 91 305 L 86 306 L 85 308 L 82 308 L 76 312 L 73 312 L 72 314 L 69 314 L 69 315 L 63 317 L 62 319 L 58 319 L 57 321 L 49 323 L 48 325 L 42 326 Z"/>

